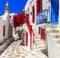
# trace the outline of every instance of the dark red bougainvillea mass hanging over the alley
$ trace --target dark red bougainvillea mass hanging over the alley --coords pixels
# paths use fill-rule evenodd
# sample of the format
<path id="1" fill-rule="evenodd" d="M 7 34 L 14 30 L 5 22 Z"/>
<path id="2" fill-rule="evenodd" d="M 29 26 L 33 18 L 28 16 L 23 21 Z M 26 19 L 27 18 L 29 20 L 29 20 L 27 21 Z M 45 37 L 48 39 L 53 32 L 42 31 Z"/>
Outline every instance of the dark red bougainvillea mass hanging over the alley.
<path id="1" fill-rule="evenodd" d="M 24 12 L 22 14 L 14 15 L 13 17 L 13 26 L 16 28 L 25 23 L 25 16 Z"/>

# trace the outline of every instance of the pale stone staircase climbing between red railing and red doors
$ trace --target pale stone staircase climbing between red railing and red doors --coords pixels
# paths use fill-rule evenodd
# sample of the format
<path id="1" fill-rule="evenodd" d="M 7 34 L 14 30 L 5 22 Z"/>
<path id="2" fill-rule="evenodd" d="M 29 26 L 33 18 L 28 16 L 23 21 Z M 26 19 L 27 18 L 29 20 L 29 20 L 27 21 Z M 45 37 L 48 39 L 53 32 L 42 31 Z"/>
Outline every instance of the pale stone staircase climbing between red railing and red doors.
<path id="1" fill-rule="evenodd" d="M 35 36 L 33 37 L 34 38 L 34 45 L 36 46 L 33 49 L 36 51 L 41 51 L 41 49 L 45 49 L 45 44 L 44 44 L 44 41 L 42 41 L 40 39 L 38 26 L 33 26 L 33 30 L 34 30 L 34 34 L 35 34 Z"/>

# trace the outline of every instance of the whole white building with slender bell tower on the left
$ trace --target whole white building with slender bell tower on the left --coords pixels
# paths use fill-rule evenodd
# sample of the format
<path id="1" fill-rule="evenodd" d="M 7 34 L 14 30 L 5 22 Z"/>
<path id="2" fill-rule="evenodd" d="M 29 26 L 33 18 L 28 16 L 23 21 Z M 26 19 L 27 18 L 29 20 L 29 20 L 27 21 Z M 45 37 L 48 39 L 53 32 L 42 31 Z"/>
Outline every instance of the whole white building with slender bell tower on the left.
<path id="1" fill-rule="evenodd" d="M 8 36 L 9 36 L 9 9 L 8 3 L 5 5 L 5 13 L 0 16 L 0 51 L 3 51 L 8 44 Z"/>

